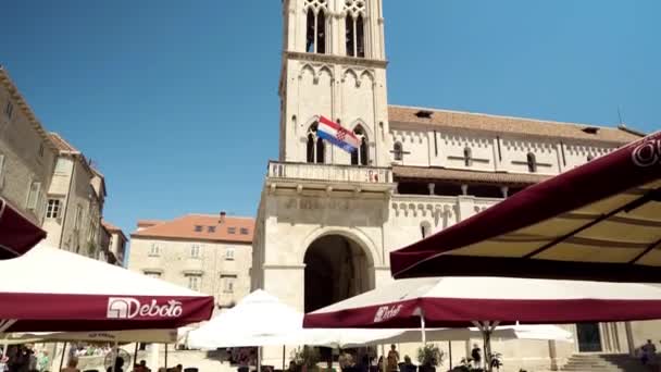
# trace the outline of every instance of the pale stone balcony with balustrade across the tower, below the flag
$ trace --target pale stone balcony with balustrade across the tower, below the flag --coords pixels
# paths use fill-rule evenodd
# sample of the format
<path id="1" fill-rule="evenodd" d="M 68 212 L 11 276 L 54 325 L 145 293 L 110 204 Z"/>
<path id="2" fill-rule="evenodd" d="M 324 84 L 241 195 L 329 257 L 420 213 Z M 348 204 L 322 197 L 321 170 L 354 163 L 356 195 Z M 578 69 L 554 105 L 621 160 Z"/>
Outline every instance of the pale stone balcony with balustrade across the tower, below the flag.
<path id="1" fill-rule="evenodd" d="M 269 162 L 267 186 L 326 191 L 390 193 L 395 189 L 389 168 Z"/>

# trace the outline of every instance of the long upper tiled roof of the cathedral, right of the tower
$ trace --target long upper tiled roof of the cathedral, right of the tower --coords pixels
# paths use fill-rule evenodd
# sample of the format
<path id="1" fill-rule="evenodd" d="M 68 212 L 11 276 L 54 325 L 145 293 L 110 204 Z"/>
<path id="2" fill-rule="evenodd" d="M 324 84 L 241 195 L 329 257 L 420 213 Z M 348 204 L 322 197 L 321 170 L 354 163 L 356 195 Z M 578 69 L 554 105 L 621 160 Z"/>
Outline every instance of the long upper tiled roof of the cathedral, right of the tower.
<path id="1" fill-rule="evenodd" d="M 431 117 L 420 117 L 416 113 L 427 111 Z M 523 117 L 487 115 L 481 113 L 422 109 L 401 106 L 389 106 L 388 115 L 394 124 L 422 124 L 447 128 L 484 131 L 492 133 L 511 133 L 523 136 L 560 137 L 570 139 L 597 140 L 615 144 L 627 144 L 639 139 L 635 131 L 613 128 L 589 124 L 560 123 Z M 586 133 L 585 128 L 596 128 L 596 133 Z"/>

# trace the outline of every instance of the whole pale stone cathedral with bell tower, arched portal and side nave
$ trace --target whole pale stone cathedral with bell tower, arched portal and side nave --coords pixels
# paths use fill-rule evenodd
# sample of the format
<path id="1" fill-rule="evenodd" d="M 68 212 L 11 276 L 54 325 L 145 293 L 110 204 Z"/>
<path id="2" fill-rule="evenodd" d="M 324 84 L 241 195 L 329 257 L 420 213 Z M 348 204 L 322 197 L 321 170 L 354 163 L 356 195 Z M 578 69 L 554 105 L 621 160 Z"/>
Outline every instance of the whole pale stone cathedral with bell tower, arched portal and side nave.
<path id="1" fill-rule="evenodd" d="M 382 7 L 283 1 L 279 159 L 261 195 L 251 285 L 301 311 L 391 281 L 390 251 L 640 137 L 624 126 L 389 104 Z M 352 131 L 360 149 L 319 138 L 320 115 Z M 641 324 L 572 325 L 575 345 L 495 349 L 548 369 L 573 352 L 626 352 L 649 328 Z"/>

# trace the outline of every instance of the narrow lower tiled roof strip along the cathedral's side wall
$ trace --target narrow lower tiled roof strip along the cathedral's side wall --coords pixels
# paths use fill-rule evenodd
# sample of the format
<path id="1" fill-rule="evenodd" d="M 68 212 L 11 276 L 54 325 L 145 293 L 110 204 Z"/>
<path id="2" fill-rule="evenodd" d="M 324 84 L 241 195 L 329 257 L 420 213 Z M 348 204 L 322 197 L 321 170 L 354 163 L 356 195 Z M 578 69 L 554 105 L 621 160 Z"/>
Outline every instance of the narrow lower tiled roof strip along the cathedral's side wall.
<path id="1" fill-rule="evenodd" d="M 533 185 L 550 178 L 539 174 L 519 174 L 501 172 L 477 172 L 448 170 L 442 168 L 392 166 L 395 178 L 446 179 L 456 182 L 475 182 L 498 185 Z"/>

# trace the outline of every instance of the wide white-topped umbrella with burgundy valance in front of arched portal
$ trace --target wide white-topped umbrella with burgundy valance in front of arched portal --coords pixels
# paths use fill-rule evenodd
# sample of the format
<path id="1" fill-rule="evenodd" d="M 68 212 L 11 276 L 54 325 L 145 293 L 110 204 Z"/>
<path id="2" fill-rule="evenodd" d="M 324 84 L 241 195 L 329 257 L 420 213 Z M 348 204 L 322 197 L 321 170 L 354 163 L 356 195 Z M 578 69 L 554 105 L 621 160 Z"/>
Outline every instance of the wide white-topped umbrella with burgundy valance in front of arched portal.
<path id="1" fill-rule="evenodd" d="M 661 319 L 661 289 L 635 283 L 512 277 L 419 277 L 394 281 L 305 314 L 304 327 L 412 328 L 477 326 L 487 365 L 490 337 L 506 324 L 562 324 Z"/>

